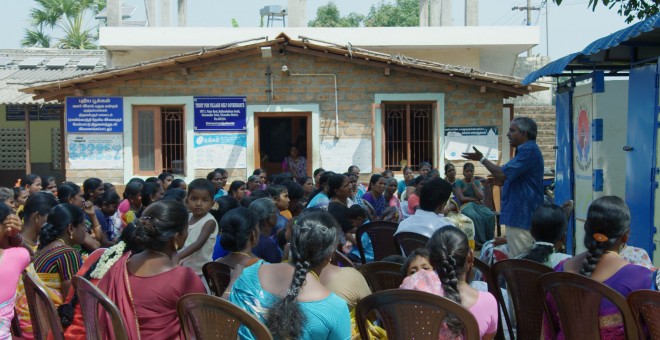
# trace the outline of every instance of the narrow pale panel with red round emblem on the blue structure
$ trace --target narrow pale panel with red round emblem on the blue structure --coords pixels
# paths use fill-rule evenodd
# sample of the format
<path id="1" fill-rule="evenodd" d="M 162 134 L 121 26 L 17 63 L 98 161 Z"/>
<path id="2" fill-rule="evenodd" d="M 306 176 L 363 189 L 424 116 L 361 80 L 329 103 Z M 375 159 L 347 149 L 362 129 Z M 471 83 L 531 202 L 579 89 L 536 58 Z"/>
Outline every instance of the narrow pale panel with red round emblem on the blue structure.
<path id="1" fill-rule="evenodd" d="M 591 94 L 573 98 L 575 218 L 582 220 L 587 219 L 587 210 L 593 200 L 592 99 Z"/>

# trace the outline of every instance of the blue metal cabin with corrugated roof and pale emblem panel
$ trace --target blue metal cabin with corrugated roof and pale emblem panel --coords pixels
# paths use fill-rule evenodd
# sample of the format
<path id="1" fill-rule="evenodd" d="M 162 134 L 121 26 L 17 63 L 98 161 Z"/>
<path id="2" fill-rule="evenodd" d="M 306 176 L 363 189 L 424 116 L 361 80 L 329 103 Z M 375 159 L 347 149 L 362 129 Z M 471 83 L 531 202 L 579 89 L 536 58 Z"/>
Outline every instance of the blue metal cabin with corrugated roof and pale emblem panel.
<path id="1" fill-rule="evenodd" d="M 556 81 L 555 201 L 575 201 L 567 249 L 584 250 L 596 198 L 617 195 L 631 213 L 628 244 L 660 265 L 658 102 L 660 14 L 598 39 L 527 75 Z"/>

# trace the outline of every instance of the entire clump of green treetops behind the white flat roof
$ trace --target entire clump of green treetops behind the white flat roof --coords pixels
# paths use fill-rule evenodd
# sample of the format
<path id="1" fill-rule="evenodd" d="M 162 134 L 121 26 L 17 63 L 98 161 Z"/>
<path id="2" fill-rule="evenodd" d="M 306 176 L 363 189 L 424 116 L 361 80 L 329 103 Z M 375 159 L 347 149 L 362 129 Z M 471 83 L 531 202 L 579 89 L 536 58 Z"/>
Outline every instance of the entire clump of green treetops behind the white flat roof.
<path id="1" fill-rule="evenodd" d="M 372 5 L 366 16 L 350 13 L 341 16 L 334 2 L 321 6 L 316 18 L 307 24 L 309 27 L 393 27 L 419 26 L 419 0 L 381 1 Z"/>

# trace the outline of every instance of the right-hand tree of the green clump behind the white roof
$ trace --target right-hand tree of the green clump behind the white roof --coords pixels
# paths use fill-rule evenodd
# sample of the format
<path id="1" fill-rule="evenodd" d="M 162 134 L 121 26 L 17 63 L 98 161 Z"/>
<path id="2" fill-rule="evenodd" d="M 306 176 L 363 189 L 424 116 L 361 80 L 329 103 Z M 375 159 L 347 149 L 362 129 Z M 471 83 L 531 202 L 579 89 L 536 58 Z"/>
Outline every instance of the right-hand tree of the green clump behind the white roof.
<path id="1" fill-rule="evenodd" d="M 419 0 L 381 1 L 372 5 L 364 21 L 369 27 L 419 26 Z"/>

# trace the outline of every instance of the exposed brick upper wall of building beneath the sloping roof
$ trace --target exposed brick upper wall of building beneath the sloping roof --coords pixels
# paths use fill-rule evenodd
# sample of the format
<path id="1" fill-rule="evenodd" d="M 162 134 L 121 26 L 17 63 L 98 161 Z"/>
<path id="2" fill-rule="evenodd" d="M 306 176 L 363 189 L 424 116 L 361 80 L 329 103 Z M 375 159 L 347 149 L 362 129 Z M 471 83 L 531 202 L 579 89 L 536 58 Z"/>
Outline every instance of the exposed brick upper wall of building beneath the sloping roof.
<path id="1" fill-rule="evenodd" d="M 333 73 L 337 76 L 340 137 L 371 138 L 371 104 L 376 93 L 444 93 L 445 125 L 501 126 L 502 93 L 478 86 L 339 62 L 327 58 L 288 53 L 274 55 L 272 105 L 318 103 L 321 137 L 334 136 L 335 101 L 331 77 L 283 76 L 287 65 L 292 73 Z M 172 71 L 129 80 L 112 87 L 87 91 L 88 96 L 247 96 L 249 105 L 267 104 L 267 61 L 260 56 L 190 68 L 188 74 Z M 440 136 L 436 136 L 439 138 Z M 252 141 L 248 141 L 251 143 Z M 316 151 L 314 151 L 316 152 Z M 205 177 L 211 169 L 196 169 Z M 230 177 L 245 179 L 245 169 L 227 169 Z M 67 172 L 82 177 L 81 171 Z M 232 178 L 230 178 L 230 181 Z"/>

